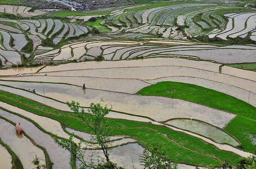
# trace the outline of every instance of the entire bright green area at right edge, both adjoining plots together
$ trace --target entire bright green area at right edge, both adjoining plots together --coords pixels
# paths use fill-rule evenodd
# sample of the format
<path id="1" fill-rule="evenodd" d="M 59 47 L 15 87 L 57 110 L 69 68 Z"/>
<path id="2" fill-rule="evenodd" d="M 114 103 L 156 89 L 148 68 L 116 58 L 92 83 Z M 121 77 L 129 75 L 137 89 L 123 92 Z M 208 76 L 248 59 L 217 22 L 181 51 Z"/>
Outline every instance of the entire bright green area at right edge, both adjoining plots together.
<path id="1" fill-rule="evenodd" d="M 244 150 L 256 151 L 256 143 L 252 141 L 256 138 L 256 130 L 253 127 L 256 126 L 256 108 L 245 101 L 216 90 L 180 82 L 159 82 L 141 89 L 137 94 L 173 97 L 240 115 L 224 130 L 236 137 Z"/>

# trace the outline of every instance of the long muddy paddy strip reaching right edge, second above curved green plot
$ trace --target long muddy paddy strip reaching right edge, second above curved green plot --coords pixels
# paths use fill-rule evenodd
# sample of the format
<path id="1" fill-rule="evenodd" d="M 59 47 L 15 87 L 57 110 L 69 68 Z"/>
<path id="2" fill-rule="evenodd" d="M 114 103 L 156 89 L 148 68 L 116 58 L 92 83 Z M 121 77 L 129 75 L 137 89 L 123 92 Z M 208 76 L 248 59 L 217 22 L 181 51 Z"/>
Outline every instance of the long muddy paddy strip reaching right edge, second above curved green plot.
<path id="1" fill-rule="evenodd" d="M 231 75 L 210 72 L 206 70 L 177 67 L 177 66 L 154 66 L 141 68 L 112 68 L 112 69 L 91 69 L 91 70 L 73 70 L 66 72 L 47 73 L 50 76 L 88 76 L 88 77 L 107 77 L 107 78 L 125 78 L 153 80 L 171 76 L 198 77 L 216 82 L 227 83 L 244 90 L 256 93 L 256 82 L 242 79 Z M 38 75 L 44 75 L 38 74 Z M 17 78 L 18 80 L 18 78 Z"/>

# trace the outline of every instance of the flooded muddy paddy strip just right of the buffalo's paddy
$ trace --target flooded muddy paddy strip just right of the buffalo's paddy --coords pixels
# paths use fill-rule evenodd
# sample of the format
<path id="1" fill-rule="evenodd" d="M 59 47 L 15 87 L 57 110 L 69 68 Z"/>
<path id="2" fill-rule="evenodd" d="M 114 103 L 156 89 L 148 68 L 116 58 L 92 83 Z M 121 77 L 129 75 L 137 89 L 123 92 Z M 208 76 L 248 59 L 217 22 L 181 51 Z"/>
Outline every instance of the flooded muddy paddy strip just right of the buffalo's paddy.
<path id="1" fill-rule="evenodd" d="M 50 135 L 39 130 L 39 128 L 37 128 L 30 121 L 28 121 L 24 118 L 21 118 L 17 115 L 11 114 L 4 110 L 0 110 L 0 115 L 2 117 L 5 117 L 5 118 L 13 121 L 13 122 L 17 121 L 17 122 L 21 123 L 22 128 L 26 132 L 26 134 L 29 135 L 37 144 L 46 148 L 47 153 L 50 156 L 51 162 L 54 163 L 52 165 L 53 169 L 63 169 L 63 168 L 71 169 L 71 166 L 70 166 L 69 160 L 68 160 L 70 157 L 70 153 L 68 151 L 66 151 L 65 149 L 59 147 L 53 141 L 53 139 L 50 137 Z M 14 128 L 14 130 L 15 130 L 15 128 Z M 9 141 L 7 141 L 6 143 L 9 143 Z M 25 150 L 27 151 L 27 148 L 26 149 L 25 148 L 23 148 L 23 151 L 25 151 Z M 34 156 L 34 154 L 33 154 L 33 156 Z M 23 156 L 23 158 L 27 158 L 27 156 Z M 27 159 L 27 161 L 29 161 L 31 163 L 31 161 L 33 161 L 33 159 Z"/>

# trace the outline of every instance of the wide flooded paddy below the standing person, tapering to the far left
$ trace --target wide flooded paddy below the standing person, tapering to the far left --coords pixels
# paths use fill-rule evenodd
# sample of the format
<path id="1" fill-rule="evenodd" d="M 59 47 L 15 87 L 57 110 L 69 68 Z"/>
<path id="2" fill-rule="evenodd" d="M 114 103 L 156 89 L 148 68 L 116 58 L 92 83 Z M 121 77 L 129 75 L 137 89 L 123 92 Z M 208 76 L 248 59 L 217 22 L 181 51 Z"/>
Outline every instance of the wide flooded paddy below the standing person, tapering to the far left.
<path id="1" fill-rule="evenodd" d="M 107 92 L 102 90 L 86 89 L 66 84 L 1 82 L 10 86 L 28 89 L 33 86 L 38 94 L 54 98 L 63 102 L 78 101 L 81 106 L 97 103 L 103 97 L 105 104 L 113 106 L 113 110 L 143 115 L 157 121 L 170 118 L 193 118 L 206 121 L 218 127 L 224 127 L 235 115 L 196 103 L 157 96 L 140 96 L 125 93 Z M 43 91 L 44 86 L 44 91 Z"/>

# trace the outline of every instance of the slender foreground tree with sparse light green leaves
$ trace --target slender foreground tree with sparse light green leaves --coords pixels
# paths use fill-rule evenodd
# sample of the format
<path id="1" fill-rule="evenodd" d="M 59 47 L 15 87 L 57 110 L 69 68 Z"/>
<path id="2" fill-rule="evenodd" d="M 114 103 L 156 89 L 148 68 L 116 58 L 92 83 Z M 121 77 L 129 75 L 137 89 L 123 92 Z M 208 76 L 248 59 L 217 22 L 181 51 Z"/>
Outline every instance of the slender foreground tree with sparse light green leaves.
<path id="1" fill-rule="evenodd" d="M 104 153 L 105 160 L 109 165 L 112 164 L 109 160 L 109 154 L 112 150 L 110 135 L 112 134 L 113 129 L 110 127 L 108 121 L 106 121 L 105 116 L 112 110 L 112 106 L 111 108 L 108 108 L 107 105 L 103 107 L 101 106 L 102 102 L 104 102 L 104 99 L 101 98 L 101 101 L 99 103 L 90 104 L 90 108 L 88 109 L 90 117 L 88 117 L 88 114 L 85 113 L 85 110 L 80 107 L 80 103 L 72 100 L 71 102 L 67 101 L 66 104 L 68 105 L 70 110 L 78 115 L 81 121 L 91 129 L 90 141 L 96 142 L 97 144 L 90 144 L 90 146 L 93 148 L 101 149 Z M 59 140 L 55 135 L 53 135 L 52 138 L 59 146 L 71 152 L 76 157 L 76 159 L 81 162 L 80 168 L 97 168 L 97 166 L 93 164 L 92 159 L 89 162 L 85 161 L 84 159 L 85 150 L 82 149 L 81 145 L 82 143 L 88 143 L 80 141 L 78 147 L 74 149 L 73 135 L 70 135 L 68 140 Z M 99 164 L 99 166 L 100 165 L 102 164 Z"/>

